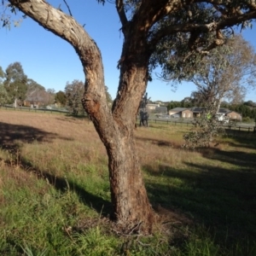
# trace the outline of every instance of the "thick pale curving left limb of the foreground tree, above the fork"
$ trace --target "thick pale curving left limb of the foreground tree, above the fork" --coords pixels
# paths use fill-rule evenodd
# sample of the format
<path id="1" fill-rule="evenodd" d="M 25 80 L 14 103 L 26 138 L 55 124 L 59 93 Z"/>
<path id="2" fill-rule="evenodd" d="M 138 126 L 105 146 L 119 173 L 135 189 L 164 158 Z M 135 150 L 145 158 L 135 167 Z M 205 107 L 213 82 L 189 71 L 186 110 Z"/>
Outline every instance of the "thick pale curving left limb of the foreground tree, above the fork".
<path id="1" fill-rule="evenodd" d="M 113 116 L 106 98 L 101 51 L 83 26 L 44 0 L 9 0 L 9 3 L 73 46 L 84 67 L 83 105 L 86 111 L 93 117 L 98 131 L 113 126 Z M 102 119 L 102 116 L 106 118 Z M 106 137 L 112 137 L 111 131 L 105 131 Z M 106 144 L 107 139 L 103 143 Z"/>

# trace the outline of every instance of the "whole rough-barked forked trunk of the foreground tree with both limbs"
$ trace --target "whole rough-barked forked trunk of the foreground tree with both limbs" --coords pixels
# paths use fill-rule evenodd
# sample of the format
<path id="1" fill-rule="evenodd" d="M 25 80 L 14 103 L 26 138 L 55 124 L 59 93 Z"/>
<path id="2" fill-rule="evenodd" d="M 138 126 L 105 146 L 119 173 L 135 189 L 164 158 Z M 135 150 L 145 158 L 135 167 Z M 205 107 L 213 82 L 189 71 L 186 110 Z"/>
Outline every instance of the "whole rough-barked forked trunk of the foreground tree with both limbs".
<path id="1" fill-rule="evenodd" d="M 118 95 L 111 111 L 105 92 L 102 55 L 84 27 L 44 0 L 9 2 L 73 45 L 86 77 L 82 102 L 108 152 L 112 216 L 126 232 L 150 232 L 154 214 L 143 184 L 133 136 L 138 105 L 148 81 L 149 55 L 141 27 L 135 31 L 129 31 L 128 27 L 119 61 Z"/>

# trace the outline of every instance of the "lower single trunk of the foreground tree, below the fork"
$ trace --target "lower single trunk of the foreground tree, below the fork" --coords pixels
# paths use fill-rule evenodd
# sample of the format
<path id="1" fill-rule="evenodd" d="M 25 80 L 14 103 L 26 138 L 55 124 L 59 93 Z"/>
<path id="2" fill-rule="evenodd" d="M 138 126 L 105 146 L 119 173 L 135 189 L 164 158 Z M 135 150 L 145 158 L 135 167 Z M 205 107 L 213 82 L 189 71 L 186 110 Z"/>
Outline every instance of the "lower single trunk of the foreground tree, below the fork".
<path id="1" fill-rule="evenodd" d="M 133 136 L 118 137 L 115 147 L 107 148 L 112 217 L 126 226 L 126 231 L 137 225 L 136 231 L 150 232 L 153 212 L 143 184 Z"/>

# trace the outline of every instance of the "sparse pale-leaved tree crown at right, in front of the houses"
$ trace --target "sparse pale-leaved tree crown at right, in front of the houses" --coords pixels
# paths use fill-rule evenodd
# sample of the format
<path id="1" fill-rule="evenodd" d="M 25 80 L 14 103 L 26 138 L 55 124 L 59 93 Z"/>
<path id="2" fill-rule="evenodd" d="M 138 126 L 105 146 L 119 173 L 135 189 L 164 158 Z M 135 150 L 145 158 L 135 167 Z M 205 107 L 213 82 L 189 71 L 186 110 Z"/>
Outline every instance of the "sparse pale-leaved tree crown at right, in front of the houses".
<path id="1" fill-rule="evenodd" d="M 218 112 L 224 99 L 241 102 L 247 88 L 256 85 L 256 55 L 251 44 L 241 36 L 230 38 L 224 46 L 213 49 L 202 61 L 203 67 L 190 80 L 197 86 L 195 102 Z"/>

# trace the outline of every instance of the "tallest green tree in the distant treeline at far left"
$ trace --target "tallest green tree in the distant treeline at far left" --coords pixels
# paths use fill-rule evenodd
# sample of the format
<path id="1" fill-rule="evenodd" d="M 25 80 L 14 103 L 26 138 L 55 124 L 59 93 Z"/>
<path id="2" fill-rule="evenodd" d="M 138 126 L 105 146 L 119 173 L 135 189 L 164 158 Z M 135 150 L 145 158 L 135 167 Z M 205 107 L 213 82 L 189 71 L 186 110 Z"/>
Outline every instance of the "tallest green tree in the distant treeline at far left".
<path id="1" fill-rule="evenodd" d="M 3 82 L 8 92 L 10 102 L 23 102 L 26 99 L 27 77 L 20 62 L 10 64 L 5 71 Z"/>

